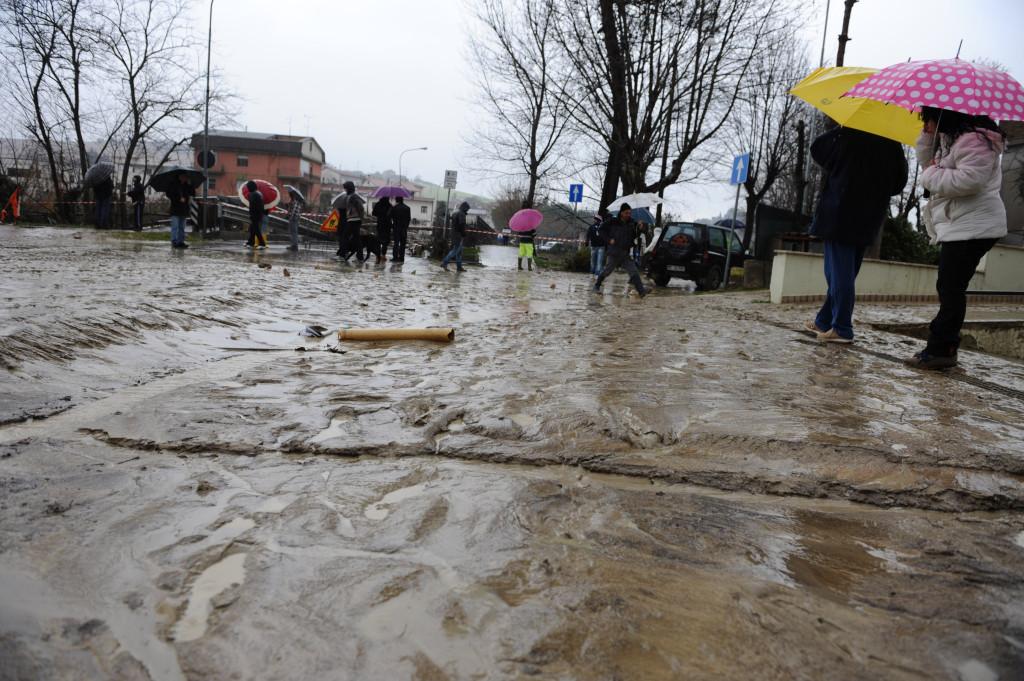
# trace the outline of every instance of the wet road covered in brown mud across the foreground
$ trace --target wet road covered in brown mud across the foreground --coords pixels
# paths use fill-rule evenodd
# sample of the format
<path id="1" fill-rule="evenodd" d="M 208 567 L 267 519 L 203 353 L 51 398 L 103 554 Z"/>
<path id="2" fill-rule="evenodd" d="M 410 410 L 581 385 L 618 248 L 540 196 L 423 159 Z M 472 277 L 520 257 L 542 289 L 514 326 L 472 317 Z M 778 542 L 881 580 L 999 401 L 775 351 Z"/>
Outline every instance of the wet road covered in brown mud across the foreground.
<path id="1" fill-rule="evenodd" d="M 930 307 L 327 255 L 0 228 L 0 679 L 1024 676 L 1024 365 Z"/>

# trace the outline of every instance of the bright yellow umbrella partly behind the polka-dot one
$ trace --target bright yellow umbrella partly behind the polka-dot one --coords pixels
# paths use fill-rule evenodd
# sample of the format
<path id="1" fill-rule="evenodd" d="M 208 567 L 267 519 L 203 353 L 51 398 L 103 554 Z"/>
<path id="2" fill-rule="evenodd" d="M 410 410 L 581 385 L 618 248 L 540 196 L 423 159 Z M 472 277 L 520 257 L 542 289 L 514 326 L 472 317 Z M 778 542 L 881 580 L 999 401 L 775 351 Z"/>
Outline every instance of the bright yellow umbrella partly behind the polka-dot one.
<path id="1" fill-rule="evenodd" d="M 902 107 L 864 97 L 844 97 L 844 92 L 878 72 L 859 67 L 824 67 L 797 83 L 790 94 L 848 128 L 871 132 L 911 146 L 921 134 L 921 119 Z"/>

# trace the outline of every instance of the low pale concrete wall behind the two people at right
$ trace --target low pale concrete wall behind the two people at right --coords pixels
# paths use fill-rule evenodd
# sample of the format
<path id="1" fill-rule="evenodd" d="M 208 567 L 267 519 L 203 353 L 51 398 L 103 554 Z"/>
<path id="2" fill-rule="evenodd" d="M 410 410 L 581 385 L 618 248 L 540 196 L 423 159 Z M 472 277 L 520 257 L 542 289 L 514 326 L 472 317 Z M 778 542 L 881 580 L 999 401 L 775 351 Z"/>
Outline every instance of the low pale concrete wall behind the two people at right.
<path id="1" fill-rule="evenodd" d="M 929 302 L 936 300 L 938 268 L 907 262 L 864 260 L 857 278 L 857 299 L 865 301 Z M 772 263 L 773 303 L 820 302 L 825 278 L 822 256 L 778 251 Z M 978 265 L 971 291 L 1018 291 L 1024 300 L 1024 248 L 999 245 Z"/>

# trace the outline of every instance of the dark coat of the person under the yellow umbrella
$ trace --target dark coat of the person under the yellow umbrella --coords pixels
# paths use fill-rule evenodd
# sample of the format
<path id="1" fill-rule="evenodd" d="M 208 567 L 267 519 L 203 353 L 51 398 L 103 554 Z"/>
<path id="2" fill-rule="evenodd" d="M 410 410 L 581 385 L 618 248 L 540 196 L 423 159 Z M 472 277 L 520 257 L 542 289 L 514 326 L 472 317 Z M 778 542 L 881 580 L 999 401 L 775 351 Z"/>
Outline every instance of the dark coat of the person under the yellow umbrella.
<path id="1" fill-rule="evenodd" d="M 811 157 L 825 172 L 811 235 L 869 246 L 889 212 L 889 198 L 906 185 L 903 147 L 868 132 L 836 128 L 814 140 Z"/>

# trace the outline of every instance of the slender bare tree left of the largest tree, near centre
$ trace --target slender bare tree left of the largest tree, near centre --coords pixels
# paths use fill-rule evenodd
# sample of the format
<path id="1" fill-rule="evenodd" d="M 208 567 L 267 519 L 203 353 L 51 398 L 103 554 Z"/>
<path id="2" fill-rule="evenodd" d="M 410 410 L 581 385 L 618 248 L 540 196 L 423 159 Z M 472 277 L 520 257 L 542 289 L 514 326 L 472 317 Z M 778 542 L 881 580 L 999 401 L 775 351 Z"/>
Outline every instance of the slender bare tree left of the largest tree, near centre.
<path id="1" fill-rule="evenodd" d="M 476 18 L 470 56 L 486 117 L 468 140 L 471 157 L 476 170 L 522 180 L 532 205 L 559 167 L 570 114 L 555 92 L 555 1 L 480 0 Z"/>

